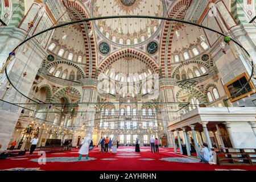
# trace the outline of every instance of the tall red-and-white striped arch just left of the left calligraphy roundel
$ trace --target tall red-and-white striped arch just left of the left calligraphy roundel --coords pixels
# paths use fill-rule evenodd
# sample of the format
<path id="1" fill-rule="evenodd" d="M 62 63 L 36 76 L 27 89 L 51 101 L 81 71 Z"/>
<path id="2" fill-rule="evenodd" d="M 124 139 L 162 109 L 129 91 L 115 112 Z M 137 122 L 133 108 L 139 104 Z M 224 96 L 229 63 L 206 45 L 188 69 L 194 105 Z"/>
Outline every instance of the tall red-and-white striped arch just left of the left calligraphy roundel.
<path id="1" fill-rule="evenodd" d="M 74 18 L 77 19 L 86 19 L 89 18 L 89 13 L 82 4 L 81 1 L 67 0 L 63 1 L 64 6 L 66 6 Z M 86 69 L 85 77 L 86 78 L 96 78 L 96 42 L 94 34 L 89 36 L 89 32 L 93 31 L 92 21 L 86 21 L 79 23 L 82 30 L 82 35 L 84 36 L 84 44 L 86 49 Z"/>

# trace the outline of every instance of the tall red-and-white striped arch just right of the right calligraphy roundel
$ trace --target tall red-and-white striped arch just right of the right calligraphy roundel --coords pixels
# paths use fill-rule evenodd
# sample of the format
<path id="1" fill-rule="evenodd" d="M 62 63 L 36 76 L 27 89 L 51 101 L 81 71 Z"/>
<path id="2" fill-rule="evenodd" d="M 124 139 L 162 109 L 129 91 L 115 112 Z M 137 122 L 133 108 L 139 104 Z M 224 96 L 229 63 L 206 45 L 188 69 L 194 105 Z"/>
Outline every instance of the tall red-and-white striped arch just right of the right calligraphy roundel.
<path id="1" fill-rule="evenodd" d="M 168 18 L 184 19 L 185 11 L 187 11 L 191 0 L 174 1 L 171 10 L 168 12 Z M 165 21 L 163 26 L 163 37 L 160 53 L 160 67 L 162 67 L 162 76 L 171 77 L 171 47 L 174 38 L 174 22 Z"/>

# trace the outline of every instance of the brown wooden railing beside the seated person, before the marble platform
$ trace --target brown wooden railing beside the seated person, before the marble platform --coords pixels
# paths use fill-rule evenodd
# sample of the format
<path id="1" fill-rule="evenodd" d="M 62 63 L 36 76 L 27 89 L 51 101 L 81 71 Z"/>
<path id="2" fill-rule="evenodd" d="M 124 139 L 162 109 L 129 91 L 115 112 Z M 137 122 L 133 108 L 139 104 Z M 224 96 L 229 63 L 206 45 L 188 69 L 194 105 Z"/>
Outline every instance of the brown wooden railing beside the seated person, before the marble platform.
<path id="1" fill-rule="evenodd" d="M 215 150 L 216 151 L 216 150 Z M 219 165 L 256 165 L 256 148 L 220 148 L 216 151 Z"/>

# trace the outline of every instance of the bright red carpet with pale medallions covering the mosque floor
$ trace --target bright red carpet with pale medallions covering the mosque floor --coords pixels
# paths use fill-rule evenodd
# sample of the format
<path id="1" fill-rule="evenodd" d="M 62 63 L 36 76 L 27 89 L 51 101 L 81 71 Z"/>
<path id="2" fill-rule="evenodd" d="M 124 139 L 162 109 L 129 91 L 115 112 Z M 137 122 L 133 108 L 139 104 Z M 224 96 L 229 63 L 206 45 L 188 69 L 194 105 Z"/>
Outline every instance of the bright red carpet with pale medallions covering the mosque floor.
<path id="1" fill-rule="evenodd" d="M 46 154 L 46 164 L 40 165 L 37 152 L 32 156 L 19 156 L 0 160 L 0 170 L 46 170 L 46 171 L 214 171 L 214 170 L 254 170 L 256 166 L 218 166 L 197 162 L 174 154 L 172 148 L 160 148 L 159 154 L 151 153 L 149 147 L 141 147 L 141 152 L 134 152 L 134 147 L 119 147 L 117 154 L 101 153 L 98 148 L 89 152 L 94 160 L 78 161 L 78 150 Z M 166 159 L 167 158 L 167 159 Z M 34 160 L 34 161 L 32 161 Z M 64 162 L 60 162 L 64 160 Z M 171 161 L 171 162 L 170 162 Z M 174 162 L 175 161 L 175 162 Z"/>

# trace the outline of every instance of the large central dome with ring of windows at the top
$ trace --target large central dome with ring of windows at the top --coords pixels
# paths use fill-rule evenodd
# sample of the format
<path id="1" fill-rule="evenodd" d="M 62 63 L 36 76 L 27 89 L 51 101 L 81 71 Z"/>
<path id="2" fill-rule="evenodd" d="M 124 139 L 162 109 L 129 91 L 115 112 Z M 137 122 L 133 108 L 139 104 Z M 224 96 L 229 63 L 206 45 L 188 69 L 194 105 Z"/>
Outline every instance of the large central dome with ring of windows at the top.
<path id="1" fill-rule="evenodd" d="M 96 0 L 94 17 L 116 15 L 163 16 L 162 1 L 155 0 Z M 121 18 L 97 20 L 101 34 L 118 44 L 138 44 L 150 38 L 158 30 L 161 20 L 146 18 Z"/>

